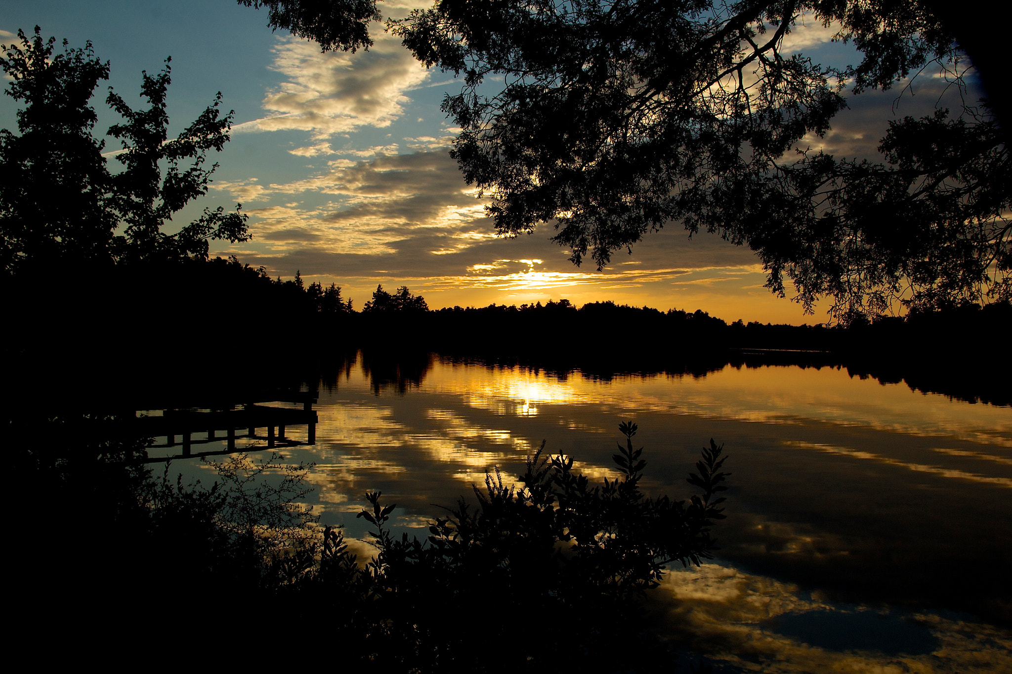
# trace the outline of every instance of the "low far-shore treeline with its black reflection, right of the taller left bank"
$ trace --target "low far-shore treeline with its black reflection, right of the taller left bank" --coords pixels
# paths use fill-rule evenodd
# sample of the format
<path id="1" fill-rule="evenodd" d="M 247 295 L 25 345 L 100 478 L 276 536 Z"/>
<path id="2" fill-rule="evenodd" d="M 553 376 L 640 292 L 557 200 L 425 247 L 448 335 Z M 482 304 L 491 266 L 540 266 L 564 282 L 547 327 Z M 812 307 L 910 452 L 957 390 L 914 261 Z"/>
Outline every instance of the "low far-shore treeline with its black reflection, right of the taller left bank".
<path id="1" fill-rule="evenodd" d="M 975 304 L 835 325 L 729 323 L 700 310 L 614 302 L 387 311 L 361 316 L 369 347 L 427 350 L 490 367 L 522 365 L 608 379 L 702 376 L 724 367 L 841 367 L 881 383 L 968 402 L 1012 404 L 1005 357 L 1012 306 Z M 409 336 L 410 335 L 410 336 Z M 969 345 L 969 346 L 967 346 Z"/>

